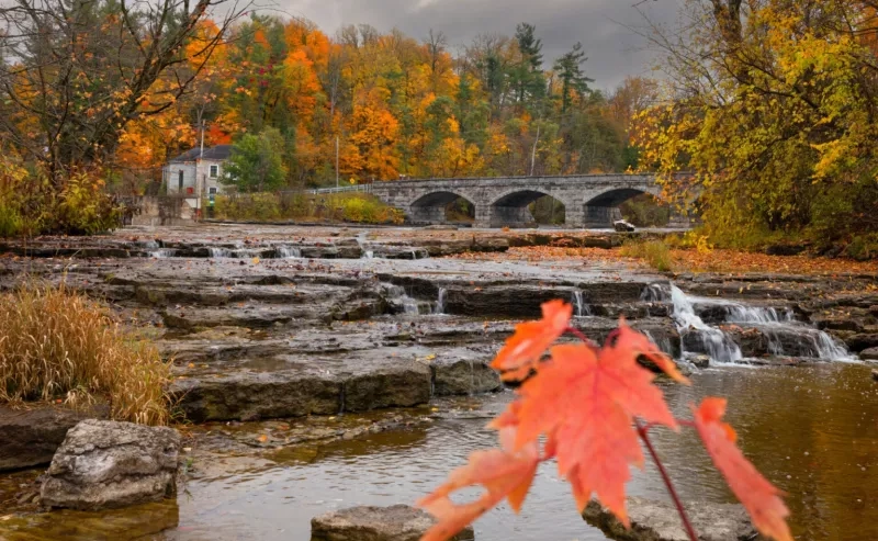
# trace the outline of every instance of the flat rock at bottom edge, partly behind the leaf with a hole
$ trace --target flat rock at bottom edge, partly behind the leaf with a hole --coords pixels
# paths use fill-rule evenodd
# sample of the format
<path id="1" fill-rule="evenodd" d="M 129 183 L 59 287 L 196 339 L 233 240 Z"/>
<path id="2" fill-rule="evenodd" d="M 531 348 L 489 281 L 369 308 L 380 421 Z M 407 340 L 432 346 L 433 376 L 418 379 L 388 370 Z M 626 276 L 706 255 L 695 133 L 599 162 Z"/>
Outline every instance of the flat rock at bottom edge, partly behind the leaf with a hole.
<path id="1" fill-rule="evenodd" d="M 351 507 L 313 518 L 311 541 L 418 541 L 435 523 L 430 514 L 407 505 Z M 470 526 L 451 541 L 473 539 Z"/>

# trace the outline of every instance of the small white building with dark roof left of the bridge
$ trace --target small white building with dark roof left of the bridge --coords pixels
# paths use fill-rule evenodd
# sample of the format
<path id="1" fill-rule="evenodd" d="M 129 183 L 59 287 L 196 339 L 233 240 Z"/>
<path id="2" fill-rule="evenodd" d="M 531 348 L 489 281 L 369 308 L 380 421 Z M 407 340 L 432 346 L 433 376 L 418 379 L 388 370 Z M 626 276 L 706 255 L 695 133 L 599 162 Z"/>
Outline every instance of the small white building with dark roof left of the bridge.
<path id="1" fill-rule="evenodd" d="M 192 208 L 198 208 L 200 198 L 223 193 L 219 177 L 223 166 L 232 154 L 232 145 L 193 148 L 171 159 L 161 171 L 161 180 L 168 194 L 183 194 Z"/>

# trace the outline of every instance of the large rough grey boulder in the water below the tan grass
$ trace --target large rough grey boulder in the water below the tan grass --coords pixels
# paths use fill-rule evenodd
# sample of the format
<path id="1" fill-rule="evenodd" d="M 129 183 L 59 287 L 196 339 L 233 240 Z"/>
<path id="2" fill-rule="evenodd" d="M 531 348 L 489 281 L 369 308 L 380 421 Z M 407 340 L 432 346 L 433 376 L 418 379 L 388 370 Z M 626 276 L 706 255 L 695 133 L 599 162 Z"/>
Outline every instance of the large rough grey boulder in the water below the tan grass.
<path id="1" fill-rule="evenodd" d="M 99 510 L 177 493 L 180 435 L 167 427 L 83 420 L 67 432 L 41 488 L 43 505 Z"/>

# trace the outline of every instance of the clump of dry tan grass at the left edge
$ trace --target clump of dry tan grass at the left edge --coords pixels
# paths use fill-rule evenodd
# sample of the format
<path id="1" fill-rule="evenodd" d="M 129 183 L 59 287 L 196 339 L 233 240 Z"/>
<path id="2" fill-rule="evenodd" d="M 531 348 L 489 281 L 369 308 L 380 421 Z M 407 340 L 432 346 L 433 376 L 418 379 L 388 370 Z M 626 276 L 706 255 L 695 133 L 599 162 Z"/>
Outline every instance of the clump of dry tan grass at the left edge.
<path id="1" fill-rule="evenodd" d="M 166 425 L 170 363 L 64 285 L 0 294 L 0 403 L 106 401 L 117 420 Z"/>

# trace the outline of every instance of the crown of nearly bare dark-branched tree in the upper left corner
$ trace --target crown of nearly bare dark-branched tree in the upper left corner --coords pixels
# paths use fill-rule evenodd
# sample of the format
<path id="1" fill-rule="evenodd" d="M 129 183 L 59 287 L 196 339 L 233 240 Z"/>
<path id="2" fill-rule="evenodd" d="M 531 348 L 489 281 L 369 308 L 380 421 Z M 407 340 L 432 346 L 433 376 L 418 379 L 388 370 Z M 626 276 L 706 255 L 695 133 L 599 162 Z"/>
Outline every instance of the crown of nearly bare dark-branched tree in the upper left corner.
<path id="1" fill-rule="evenodd" d="M 218 9 L 218 31 L 199 33 Z M 56 181 L 112 158 L 130 122 L 189 91 L 246 9 L 225 0 L 9 2 L 0 7 L 0 131 Z M 201 60 L 190 65 L 193 42 Z"/>

